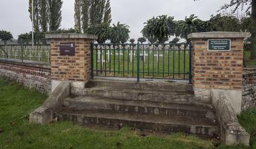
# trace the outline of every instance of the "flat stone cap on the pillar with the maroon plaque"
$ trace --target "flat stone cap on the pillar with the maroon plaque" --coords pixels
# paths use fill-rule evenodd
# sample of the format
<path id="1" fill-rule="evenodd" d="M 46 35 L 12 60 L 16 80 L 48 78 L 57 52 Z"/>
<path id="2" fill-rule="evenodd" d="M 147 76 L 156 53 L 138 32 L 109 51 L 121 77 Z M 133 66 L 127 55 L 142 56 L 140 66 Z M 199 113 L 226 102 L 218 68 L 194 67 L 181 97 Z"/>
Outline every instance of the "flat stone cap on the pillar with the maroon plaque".
<path id="1" fill-rule="evenodd" d="M 84 33 L 51 33 L 45 35 L 46 39 L 97 39 L 97 35 Z"/>

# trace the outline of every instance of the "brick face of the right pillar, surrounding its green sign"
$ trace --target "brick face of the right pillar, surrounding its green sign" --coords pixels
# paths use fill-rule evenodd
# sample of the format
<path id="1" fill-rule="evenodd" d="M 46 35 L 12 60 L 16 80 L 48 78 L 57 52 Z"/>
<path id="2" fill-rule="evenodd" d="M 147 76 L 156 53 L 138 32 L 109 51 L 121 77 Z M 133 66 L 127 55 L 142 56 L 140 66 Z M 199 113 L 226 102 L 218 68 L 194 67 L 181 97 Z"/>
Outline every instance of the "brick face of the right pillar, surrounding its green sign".
<path id="1" fill-rule="evenodd" d="M 243 38 L 231 39 L 231 51 L 208 51 L 208 39 L 193 39 L 192 44 L 195 88 L 242 89 Z"/>

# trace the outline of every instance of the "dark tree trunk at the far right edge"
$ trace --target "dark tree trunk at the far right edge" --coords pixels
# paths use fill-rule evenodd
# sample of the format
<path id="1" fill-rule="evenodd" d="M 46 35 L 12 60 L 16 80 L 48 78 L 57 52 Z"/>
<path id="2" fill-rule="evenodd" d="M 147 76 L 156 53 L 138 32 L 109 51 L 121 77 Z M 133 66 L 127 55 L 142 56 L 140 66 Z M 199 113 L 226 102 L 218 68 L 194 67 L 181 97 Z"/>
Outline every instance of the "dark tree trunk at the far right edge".
<path id="1" fill-rule="evenodd" d="M 252 0 L 251 3 L 251 17 L 253 20 L 253 28 L 252 28 L 252 49 L 251 49 L 251 59 L 256 59 L 256 0 Z"/>

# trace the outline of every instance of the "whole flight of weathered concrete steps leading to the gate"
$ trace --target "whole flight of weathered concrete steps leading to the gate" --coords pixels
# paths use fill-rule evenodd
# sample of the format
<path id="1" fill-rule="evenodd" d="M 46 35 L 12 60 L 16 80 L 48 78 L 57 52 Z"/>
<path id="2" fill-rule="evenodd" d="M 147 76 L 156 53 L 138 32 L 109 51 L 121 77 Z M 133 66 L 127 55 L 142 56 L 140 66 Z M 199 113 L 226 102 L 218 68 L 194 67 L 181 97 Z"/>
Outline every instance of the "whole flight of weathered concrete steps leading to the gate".
<path id="1" fill-rule="evenodd" d="M 73 88 L 71 94 L 58 112 L 59 120 L 200 136 L 220 134 L 212 106 L 195 98 L 185 83 L 96 79 L 84 89 Z"/>

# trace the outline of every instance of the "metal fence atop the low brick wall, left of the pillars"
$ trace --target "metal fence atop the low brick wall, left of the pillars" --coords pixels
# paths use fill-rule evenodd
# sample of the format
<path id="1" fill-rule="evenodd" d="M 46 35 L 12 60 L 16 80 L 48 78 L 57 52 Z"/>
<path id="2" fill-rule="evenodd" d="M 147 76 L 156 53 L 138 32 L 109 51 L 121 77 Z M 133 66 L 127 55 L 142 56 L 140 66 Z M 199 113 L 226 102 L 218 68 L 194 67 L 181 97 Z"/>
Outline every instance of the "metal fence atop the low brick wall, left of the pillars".
<path id="1" fill-rule="evenodd" d="M 50 62 L 50 45 L 32 46 L 32 44 L 24 43 L 0 45 L 0 58 Z"/>

